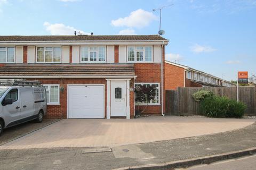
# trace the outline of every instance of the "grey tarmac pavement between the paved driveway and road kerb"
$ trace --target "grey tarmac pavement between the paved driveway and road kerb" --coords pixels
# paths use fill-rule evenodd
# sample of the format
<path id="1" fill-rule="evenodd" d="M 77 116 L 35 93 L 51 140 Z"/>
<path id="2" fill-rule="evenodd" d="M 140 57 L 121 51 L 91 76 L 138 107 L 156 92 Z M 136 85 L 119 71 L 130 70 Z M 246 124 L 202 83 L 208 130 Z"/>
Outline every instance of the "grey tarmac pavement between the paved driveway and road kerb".
<path id="1" fill-rule="evenodd" d="M 190 117 L 190 120 L 193 119 Z M 211 120 L 224 121 L 214 118 Z M 189 121 L 187 123 L 189 124 Z M 106 149 L 103 152 L 96 150 L 86 152 L 93 148 L 2 149 L 0 165 L 1 169 L 108 170 L 223 154 L 256 147 L 255 141 L 256 123 L 253 123 L 245 128 L 227 132 L 137 145 L 114 146 L 110 151 Z"/>

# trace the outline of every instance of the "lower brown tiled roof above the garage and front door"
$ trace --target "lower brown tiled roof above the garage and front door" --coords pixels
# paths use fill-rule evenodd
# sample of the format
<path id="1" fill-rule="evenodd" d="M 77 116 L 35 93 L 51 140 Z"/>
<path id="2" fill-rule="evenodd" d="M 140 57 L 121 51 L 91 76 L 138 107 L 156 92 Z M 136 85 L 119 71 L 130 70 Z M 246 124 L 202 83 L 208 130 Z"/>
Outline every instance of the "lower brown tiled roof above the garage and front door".
<path id="1" fill-rule="evenodd" d="M 22 76 L 133 76 L 134 64 L 6 64 L 1 77 Z"/>

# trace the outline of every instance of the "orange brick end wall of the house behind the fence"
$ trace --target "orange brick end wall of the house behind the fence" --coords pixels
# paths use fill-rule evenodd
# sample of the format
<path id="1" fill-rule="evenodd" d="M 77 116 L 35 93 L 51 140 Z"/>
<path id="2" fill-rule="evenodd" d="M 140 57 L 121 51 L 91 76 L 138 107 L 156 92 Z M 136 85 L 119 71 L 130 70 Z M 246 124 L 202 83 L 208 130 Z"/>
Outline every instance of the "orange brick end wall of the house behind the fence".
<path id="1" fill-rule="evenodd" d="M 184 87 L 184 70 L 172 64 L 165 63 L 165 89 L 175 90 Z"/>

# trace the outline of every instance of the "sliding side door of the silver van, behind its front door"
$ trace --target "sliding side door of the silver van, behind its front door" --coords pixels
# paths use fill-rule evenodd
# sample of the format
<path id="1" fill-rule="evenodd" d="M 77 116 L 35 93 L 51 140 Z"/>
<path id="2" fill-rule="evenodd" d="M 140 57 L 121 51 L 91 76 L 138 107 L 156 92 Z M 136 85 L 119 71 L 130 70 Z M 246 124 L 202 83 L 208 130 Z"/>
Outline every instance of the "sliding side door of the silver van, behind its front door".
<path id="1" fill-rule="evenodd" d="M 34 99 L 34 90 L 33 88 L 20 88 L 21 96 L 21 118 L 33 118 L 35 113 L 35 99 Z M 27 120 L 25 120 L 27 121 Z"/>

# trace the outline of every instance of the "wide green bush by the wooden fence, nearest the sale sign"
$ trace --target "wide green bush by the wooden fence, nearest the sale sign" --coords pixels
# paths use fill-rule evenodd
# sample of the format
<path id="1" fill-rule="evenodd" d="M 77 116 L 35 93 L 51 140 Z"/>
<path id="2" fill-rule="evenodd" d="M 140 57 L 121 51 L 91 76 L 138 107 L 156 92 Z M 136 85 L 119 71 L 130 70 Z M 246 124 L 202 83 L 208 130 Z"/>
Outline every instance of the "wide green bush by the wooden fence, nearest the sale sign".
<path id="1" fill-rule="evenodd" d="M 244 115 L 246 105 L 227 97 L 207 97 L 201 100 L 201 112 L 207 117 L 236 117 Z"/>

